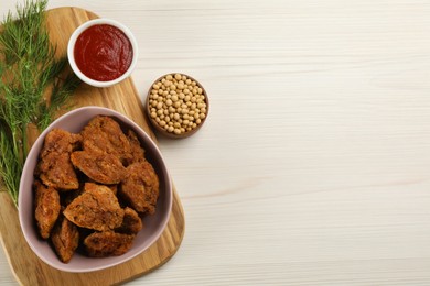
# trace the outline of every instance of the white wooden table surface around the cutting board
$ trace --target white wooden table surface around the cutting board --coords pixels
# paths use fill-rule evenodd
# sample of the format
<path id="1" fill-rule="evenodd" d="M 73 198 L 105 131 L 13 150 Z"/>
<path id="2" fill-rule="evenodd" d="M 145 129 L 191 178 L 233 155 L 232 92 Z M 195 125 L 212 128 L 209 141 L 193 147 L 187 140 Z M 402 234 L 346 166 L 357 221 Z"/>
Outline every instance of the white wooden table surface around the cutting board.
<path id="1" fill-rule="evenodd" d="M 61 6 L 133 31 L 142 99 L 171 72 L 211 99 L 198 133 L 160 140 L 182 246 L 128 285 L 430 285 L 430 1 Z"/>

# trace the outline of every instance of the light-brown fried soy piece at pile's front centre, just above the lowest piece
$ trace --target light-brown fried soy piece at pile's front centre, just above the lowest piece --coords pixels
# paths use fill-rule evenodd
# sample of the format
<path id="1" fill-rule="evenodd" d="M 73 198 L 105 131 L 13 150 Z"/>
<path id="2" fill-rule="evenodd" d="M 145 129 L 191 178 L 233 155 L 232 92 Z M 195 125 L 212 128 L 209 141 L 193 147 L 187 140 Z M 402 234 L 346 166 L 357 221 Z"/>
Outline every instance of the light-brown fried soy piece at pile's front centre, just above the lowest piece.
<path id="1" fill-rule="evenodd" d="M 80 228 L 108 231 L 122 224 L 123 209 L 106 186 L 85 184 L 84 193 L 74 199 L 63 215 Z"/>

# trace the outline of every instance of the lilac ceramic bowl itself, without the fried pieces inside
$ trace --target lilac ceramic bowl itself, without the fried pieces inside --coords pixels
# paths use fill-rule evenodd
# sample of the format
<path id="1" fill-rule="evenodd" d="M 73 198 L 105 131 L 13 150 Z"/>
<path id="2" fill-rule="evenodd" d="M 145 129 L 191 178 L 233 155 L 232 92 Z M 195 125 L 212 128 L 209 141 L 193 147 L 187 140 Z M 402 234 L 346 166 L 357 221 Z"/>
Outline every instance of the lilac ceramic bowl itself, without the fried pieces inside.
<path id="1" fill-rule="evenodd" d="M 34 220 L 34 193 L 32 189 L 33 173 L 37 163 L 39 153 L 49 131 L 61 128 L 69 132 L 78 133 L 95 116 L 104 114 L 114 117 L 120 125 L 132 129 L 140 139 L 146 156 L 152 163 L 160 179 L 160 196 L 157 202 L 155 213 L 146 216 L 142 220 L 144 228 L 137 234 L 132 248 L 120 256 L 103 258 L 88 257 L 75 253 L 68 263 L 63 263 L 56 256 L 53 248 L 37 234 Z M 45 263 L 65 272 L 92 272 L 111 267 L 123 263 L 147 250 L 163 232 L 172 208 L 172 184 L 160 150 L 150 136 L 133 121 L 117 111 L 100 107 L 84 107 L 73 110 L 55 120 L 35 141 L 25 161 L 21 177 L 18 198 L 19 218 L 22 232 L 34 253 Z"/>

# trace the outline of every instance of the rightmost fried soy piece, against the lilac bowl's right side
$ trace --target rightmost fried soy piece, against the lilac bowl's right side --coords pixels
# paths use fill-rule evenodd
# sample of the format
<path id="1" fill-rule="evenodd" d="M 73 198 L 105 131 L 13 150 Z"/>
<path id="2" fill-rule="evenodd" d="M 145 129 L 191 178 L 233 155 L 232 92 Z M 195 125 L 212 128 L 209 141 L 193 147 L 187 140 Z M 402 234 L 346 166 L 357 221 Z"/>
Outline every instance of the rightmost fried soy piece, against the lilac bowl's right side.
<path id="1" fill-rule="evenodd" d="M 151 215 L 155 211 L 159 188 L 155 170 L 144 161 L 127 167 L 119 194 L 136 211 Z"/>

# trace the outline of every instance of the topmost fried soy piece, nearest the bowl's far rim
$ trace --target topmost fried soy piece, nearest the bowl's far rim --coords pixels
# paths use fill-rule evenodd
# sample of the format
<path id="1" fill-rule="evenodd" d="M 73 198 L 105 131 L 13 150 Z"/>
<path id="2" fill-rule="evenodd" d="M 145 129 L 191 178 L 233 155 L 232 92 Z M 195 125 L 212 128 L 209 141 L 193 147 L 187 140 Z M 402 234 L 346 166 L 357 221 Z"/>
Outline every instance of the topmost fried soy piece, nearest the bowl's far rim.
<path id="1" fill-rule="evenodd" d="M 85 151 L 111 154 L 118 157 L 121 163 L 131 158 L 130 142 L 118 122 L 110 117 L 95 117 L 85 125 L 80 134 Z"/>

